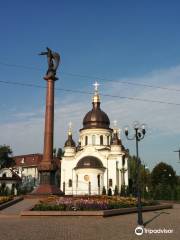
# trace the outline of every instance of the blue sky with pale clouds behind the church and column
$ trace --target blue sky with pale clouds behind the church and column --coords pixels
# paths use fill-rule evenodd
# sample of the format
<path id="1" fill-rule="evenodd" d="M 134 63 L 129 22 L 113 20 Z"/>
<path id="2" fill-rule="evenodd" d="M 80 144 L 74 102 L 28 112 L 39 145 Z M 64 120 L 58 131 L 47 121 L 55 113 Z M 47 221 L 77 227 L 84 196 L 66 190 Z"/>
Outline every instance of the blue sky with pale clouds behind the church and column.
<path id="1" fill-rule="evenodd" d="M 4 1 L 0 7 L 0 80 L 41 84 L 46 46 L 60 52 L 62 63 L 56 87 L 92 91 L 97 77 L 100 92 L 180 103 L 179 93 L 120 82 L 132 81 L 179 88 L 179 1 Z M 2 63 L 32 69 L 8 67 Z M 83 78 L 67 75 L 87 75 Z M 134 120 L 146 122 L 141 156 L 149 167 L 159 161 L 180 164 L 180 106 L 102 97 L 102 108 L 120 128 Z M 45 90 L 0 83 L 0 144 L 14 154 L 41 152 Z M 69 121 L 74 138 L 91 108 L 91 96 L 56 93 L 55 146 L 63 146 Z M 25 141 L 26 139 L 26 141 Z M 134 145 L 123 143 L 134 153 Z"/>

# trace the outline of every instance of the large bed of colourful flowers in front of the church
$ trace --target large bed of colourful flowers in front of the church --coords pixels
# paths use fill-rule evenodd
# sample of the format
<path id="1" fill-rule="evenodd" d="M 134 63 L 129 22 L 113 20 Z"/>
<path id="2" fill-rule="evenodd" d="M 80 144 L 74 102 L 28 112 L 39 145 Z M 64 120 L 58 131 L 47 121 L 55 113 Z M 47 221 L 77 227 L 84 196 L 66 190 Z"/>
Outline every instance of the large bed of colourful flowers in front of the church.
<path id="1" fill-rule="evenodd" d="M 157 204 L 154 201 L 142 201 L 143 206 Z M 48 197 L 36 204 L 32 211 L 97 211 L 136 207 L 137 200 L 130 197 L 83 196 Z"/>

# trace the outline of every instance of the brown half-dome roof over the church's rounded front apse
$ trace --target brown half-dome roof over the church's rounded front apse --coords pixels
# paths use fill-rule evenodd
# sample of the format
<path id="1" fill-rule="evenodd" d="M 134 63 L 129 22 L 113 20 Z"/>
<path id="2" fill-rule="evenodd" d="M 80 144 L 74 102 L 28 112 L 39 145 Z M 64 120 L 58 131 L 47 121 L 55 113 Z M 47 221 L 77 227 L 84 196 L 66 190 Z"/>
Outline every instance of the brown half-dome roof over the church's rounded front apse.
<path id="1" fill-rule="evenodd" d="M 75 169 L 79 168 L 104 168 L 104 166 L 98 158 L 87 156 L 79 160 Z"/>

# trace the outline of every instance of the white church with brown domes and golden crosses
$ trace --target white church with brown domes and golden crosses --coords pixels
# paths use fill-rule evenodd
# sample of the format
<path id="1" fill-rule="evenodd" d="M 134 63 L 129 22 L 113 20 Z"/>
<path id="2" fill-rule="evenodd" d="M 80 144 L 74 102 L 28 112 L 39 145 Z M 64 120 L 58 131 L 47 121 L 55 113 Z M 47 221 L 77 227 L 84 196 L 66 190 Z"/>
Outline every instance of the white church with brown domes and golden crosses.
<path id="1" fill-rule="evenodd" d="M 71 126 L 61 161 L 61 190 L 66 195 L 100 195 L 128 186 L 128 151 L 116 124 L 110 127 L 101 110 L 99 84 L 94 84 L 92 110 L 83 119 L 79 142 L 73 140 Z"/>

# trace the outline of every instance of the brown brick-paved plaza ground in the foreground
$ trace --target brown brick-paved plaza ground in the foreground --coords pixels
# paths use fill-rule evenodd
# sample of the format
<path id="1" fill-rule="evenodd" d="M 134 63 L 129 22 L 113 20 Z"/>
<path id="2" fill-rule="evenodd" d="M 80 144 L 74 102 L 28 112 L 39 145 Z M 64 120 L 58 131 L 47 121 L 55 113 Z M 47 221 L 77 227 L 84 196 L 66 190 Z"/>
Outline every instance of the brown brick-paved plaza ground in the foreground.
<path id="1" fill-rule="evenodd" d="M 17 212 L 28 201 L 18 203 Z M 5 210 L 4 210 L 5 211 Z M 6 210 L 8 211 L 8 209 Z M 14 213 L 14 210 L 11 213 Z M 16 213 L 17 213 L 16 212 Z M 173 229 L 172 234 L 136 236 L 136 214 L 115 217 L 7 217 L 0 215 L 0 240 L 133 240 L 180 239 L 180 204 L 143 213 L 146 228 Z"/>

